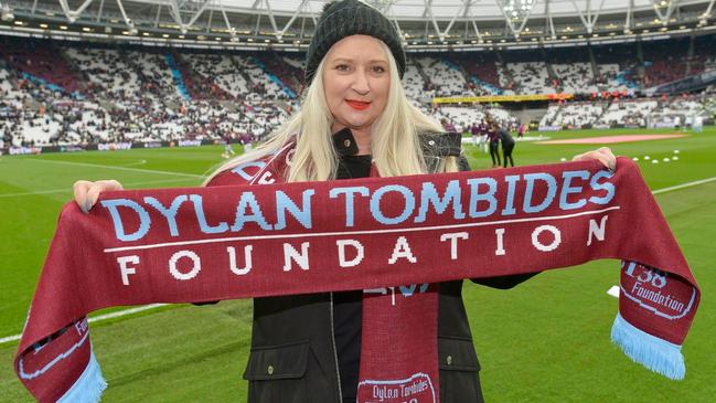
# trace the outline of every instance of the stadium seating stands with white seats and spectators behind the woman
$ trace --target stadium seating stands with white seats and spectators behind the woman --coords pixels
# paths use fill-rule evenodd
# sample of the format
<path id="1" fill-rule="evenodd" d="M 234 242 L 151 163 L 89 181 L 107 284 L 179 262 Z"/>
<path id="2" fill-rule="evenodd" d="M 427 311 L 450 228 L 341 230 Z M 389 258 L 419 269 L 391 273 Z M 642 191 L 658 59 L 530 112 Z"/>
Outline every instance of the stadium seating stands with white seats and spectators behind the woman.
<path id="1" fill-rule="evenodd" d="M 565 92 L 589 100 L 549 105 L 541 127 L 646 125 L 654 116 L 693 116 L 706 99 L 613 94 L 632 98 L 687 71 L 716 68 L 715 38 L 698 38 L 693 52 L 683 40 L 644 44 L 643 68 L 633 43 L 408 53 L 404 87 L 415 105 L 461 130 L 485 116 L 503 125 L 516 118 L 500 106 L 434 109 L 432 97 Z M 298 107 L 302 68 L 298 53 L 0 36 L 0 138 L 17 146 L 258 138 Z"/>

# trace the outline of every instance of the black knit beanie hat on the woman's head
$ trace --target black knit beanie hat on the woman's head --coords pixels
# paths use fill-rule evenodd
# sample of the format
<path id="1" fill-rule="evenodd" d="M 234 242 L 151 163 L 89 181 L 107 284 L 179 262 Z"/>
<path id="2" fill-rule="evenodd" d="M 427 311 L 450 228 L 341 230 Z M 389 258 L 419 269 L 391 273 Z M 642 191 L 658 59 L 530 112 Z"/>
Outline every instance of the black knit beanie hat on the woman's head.
<path id="1" fill-rule="evenodd" d="M 395 57 L 398 74 L 405 73 L 405 52 L 395 26 L 375 8 L 359 0 L 333 1 L 323 7 L 313 40 L 306 54 L 304 84 L 313 81 L 316 70 L 333 44 L 351 35 L 370 35 L 385 42 Z"/>

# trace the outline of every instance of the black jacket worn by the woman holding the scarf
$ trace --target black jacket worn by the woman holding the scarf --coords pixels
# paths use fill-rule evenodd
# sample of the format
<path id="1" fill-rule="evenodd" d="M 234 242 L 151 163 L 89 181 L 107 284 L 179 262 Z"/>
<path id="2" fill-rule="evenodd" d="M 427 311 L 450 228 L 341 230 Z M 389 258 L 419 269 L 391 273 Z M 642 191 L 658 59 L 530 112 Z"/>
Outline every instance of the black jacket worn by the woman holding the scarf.
<path id="1" fill-rule="evenodd" d="M 437 157 L 459 155 L 456 141 L 460 141 L 460 136 L 421 136 L 426 161 L 431 165 Z M 340 147 L 336 144 L 339 152 Z M 469 169 L 464 159 L 461 169 Z M 511 288 L 528 277 L 474 282 Z M 254 299 L 252 351 L 244 373 L 248 380 L 248 402 L 341 402 L 332 298 L 333 294 L 327 293 Z M 483 401 L 480 362 L 462 304 L 462 280 L 440 284 L 438 364 L 441 402 Z"/>

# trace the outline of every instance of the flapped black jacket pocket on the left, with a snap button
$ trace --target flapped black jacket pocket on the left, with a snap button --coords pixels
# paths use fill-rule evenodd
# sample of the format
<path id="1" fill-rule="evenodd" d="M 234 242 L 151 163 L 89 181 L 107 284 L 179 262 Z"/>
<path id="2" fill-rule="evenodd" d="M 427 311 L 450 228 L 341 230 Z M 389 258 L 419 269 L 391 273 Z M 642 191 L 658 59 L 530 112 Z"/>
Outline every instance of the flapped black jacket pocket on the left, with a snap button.
<path id="1" fill-rule="evenodd" d="M 244 372 L 248 381 L 248 401 L 308 402 L 304 379 L 308 356 L 308 340 L 253 348 Z"/>

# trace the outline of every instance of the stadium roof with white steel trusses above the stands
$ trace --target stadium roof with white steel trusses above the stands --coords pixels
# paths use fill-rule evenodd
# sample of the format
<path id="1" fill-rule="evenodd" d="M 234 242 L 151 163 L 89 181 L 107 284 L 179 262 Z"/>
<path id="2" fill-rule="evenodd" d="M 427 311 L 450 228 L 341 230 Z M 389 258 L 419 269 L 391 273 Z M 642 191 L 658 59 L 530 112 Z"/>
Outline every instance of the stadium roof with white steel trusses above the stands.
<path id="1" fill-rule="evenodd" d="M 716 0 L 365 0 L 408 49 L 713 32 Z M 0 33 L 306 46 L 325 0 L 0 0 Z M 613 38 L 617 36 L 617 38 Z"/>

